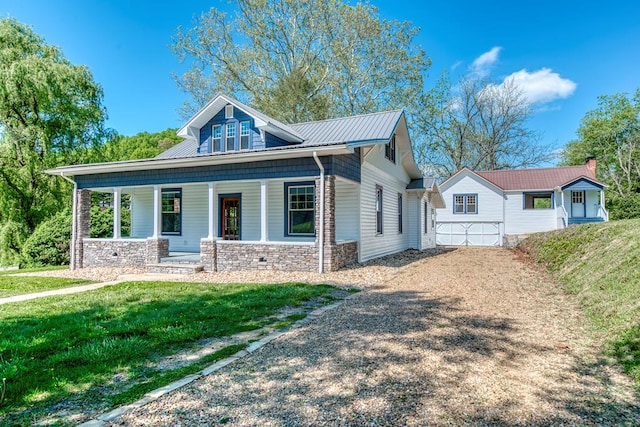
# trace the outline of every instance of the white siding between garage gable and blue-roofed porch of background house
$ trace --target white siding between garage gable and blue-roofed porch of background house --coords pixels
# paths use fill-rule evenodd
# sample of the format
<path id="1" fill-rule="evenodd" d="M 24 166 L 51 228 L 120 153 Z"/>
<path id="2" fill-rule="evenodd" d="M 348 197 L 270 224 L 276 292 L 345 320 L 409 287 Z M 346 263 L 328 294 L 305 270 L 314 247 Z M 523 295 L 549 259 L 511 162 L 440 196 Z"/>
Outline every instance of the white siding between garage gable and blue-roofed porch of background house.
<path id="1" fill-rule="evenodd" d="M 524 209 L 523 193 L 505 193 L 505 234 L 527 234 L 555 230 L 555 209 Z M 567 200 L 565 200 L 565 203 Z"/>

